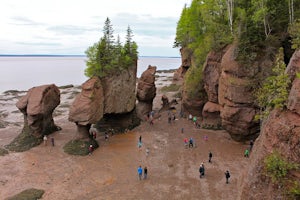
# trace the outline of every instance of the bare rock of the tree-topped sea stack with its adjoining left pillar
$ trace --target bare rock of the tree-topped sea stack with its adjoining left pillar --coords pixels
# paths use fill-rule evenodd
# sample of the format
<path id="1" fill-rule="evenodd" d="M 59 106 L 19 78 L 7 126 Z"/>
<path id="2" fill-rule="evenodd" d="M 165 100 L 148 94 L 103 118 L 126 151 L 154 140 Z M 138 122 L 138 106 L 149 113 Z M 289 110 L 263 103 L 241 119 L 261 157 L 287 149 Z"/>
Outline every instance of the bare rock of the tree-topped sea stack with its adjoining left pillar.
<path id="1" fill-rule="evenodd" d="M 69 120 L 75 122 L 79 137 L 87 137 L 91 124 L 105 129 L 125 130 L 139 123 L 135 117 L 137 66 L 105 77 L 93 77 L 82 85 L 73 102 Z"/>

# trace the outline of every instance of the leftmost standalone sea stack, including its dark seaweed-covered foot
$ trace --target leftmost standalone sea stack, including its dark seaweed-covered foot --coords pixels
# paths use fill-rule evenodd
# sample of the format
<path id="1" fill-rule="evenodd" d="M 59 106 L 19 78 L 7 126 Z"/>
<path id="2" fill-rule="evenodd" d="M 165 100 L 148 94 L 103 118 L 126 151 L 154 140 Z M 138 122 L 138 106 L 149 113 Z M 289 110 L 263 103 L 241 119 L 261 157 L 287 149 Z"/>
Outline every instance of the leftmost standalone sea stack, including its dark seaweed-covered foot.
<path id="1" fill-rule="evenodd" d="M 60 104 L 60 91 L 54 84 L 31 88 L 16 104 L 24 115 L 24 127 L 7 147 L 12 151 L 25 151 L 42 141 L 43 135 L 60 130 L 52 113 Z"/>

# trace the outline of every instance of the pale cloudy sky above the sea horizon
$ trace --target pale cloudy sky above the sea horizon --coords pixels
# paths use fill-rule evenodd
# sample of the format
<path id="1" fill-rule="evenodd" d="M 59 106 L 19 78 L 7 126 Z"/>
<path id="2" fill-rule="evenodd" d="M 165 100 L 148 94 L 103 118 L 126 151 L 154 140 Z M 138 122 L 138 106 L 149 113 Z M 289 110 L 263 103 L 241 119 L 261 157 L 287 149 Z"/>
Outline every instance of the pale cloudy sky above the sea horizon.
<path id="1" fill-rule="evenodd" d="M 177 22 L 191 0 L 2 0 L 0 54 L 85 55 L 103 36 L 106 18 L 115 38 L 133 31 L 139 56 L 179 57 Z"/>

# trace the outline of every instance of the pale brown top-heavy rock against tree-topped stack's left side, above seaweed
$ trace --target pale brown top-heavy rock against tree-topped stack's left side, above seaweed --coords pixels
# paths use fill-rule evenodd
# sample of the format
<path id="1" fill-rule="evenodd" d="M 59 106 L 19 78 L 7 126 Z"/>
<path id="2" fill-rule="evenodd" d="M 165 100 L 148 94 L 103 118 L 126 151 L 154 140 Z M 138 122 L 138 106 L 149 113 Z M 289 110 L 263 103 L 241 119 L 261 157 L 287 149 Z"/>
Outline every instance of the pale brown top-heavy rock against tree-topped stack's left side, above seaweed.
<path id="1" fill-rule="evenodd" d="M 82 90 L 75 98 L 69 111 L 69 121 L 75 122 L 80 137 L 88 135 L 91 124 L 103 117 L 104 94 L 101 81 L 92 77 L 81 86 Z"/>

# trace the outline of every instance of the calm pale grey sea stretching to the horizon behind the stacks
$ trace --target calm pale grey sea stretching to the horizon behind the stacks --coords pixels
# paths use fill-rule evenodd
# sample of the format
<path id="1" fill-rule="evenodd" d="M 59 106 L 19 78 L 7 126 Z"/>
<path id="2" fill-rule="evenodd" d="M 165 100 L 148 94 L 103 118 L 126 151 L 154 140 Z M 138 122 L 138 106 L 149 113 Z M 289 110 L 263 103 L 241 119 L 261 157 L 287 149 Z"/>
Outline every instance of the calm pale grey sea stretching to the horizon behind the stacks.
<path id="1" fill-rule="evenodd" d="M 34 86 L 55 84 L 81 85 L 86 57 L 81 56 L 0 56 L 0 93 L 7 90 L 28 90 Z M 140 57 L 137 77 L 148 68 L 157 70 L 177 69 L 181 58 Z"/>

